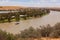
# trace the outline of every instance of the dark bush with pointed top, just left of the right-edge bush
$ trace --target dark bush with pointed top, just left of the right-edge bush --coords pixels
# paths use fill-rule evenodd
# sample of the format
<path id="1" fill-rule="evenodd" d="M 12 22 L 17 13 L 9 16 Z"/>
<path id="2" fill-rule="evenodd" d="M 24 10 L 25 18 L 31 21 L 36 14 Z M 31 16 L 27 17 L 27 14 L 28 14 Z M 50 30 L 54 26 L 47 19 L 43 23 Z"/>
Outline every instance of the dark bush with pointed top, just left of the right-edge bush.
<path id="1" fill-rule="evenodd" d="M 42 37 L 49 37 L 49 34 L 52 32 L 52 27 L 48 24 L 46 27 L 45 26 L 41 26 L 41 36 Z"/>

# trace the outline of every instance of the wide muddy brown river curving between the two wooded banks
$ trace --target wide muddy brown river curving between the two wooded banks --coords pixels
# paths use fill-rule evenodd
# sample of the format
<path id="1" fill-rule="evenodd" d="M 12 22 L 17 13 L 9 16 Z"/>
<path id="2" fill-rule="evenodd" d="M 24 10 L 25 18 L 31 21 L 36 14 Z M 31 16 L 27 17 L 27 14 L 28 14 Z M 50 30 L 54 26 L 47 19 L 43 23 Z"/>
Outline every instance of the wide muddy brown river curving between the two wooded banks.
<path id="1" fill-rule="evenodd" d="M 45 15 L 41 18 L 20 20 L 19 22 L 20 24 L 18 25 L 15 25 L 16 22 L 0 23 L 0 29 L 16 34 L 19 33 L 21 30 L 29 28 L 30 26 L 34 28 L 39 27 L 40 25 L 47 25 L 47 24 L 53 26 L 57 22 L 60 22 L 60 12 L 51 11 L 49 15 Z"/>

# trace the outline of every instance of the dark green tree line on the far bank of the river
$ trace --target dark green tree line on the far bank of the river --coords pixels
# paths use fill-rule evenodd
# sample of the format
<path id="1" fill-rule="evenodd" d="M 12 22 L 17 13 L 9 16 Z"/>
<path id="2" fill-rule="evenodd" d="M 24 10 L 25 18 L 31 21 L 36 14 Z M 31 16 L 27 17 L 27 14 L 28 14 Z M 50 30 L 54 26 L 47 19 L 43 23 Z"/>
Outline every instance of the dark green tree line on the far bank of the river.
<path id="1" fill-rule="evenodd" d="M 15 21 L 19 21 L 20 18 L 28 19 L 29 17 L 37 17 L 37 16 L 43 16 L 46 14 L 49 14 L 50 10 L 48 9 L 40 9 L 40 8 L 24 8 L 24 9 L 18 9 L 15 10 L 17 12 L 12 12 L 14 10 L 7 10 L 10 11 L 9 13 L 0 13 L 0 21 L 8 21 L 11 22 L 12 19 L 15 19 Z M 21 17 L 21 15 L 23 15 Z"/>

